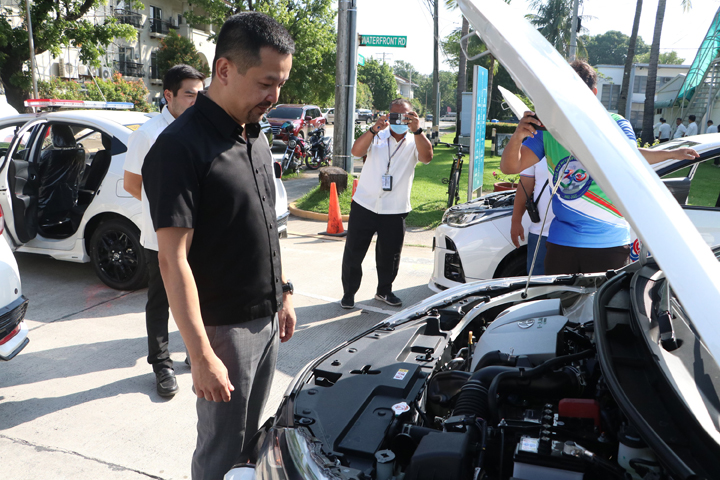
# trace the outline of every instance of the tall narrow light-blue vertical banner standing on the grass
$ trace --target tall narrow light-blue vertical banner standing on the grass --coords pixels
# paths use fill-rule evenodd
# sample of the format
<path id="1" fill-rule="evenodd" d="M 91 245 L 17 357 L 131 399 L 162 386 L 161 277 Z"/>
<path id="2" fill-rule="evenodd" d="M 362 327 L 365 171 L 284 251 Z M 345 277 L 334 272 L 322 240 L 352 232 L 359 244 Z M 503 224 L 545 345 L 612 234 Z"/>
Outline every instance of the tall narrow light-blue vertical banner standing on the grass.
<path id="1" fill-rule="evenodd" d="M 468 175 L 468 202 L 475 190 L 482 187 L 485 168 L 485 123 L 487 122 L 487 69 L 473 67 L 473 108 L 470 132 L 470 174 Z"/>

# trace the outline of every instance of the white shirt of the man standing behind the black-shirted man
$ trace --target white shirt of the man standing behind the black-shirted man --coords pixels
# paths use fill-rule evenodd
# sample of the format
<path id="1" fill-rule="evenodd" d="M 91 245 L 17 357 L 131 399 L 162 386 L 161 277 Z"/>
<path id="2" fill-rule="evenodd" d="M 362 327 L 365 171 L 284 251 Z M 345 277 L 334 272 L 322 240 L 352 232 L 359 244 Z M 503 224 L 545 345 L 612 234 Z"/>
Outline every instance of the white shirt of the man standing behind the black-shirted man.
<path id="1" fill-rule="evenodd" d="M 125 170 L 136 175 L 142 175 L 142 165 L 145 155 L 160 136 L 163 130 L 175 120 L 167 107 L 163 108 L 160 115 L 142 124 L 140 128 L 130 135 L 128 140 L 128 151 L 125 154 Z M 149 250 L 157 251 L 157 234 L 150 218 L 150 204 L 145 195 L 145 184 L 142 186 L 142 227 L 140 229 L 140 243 Z"/>

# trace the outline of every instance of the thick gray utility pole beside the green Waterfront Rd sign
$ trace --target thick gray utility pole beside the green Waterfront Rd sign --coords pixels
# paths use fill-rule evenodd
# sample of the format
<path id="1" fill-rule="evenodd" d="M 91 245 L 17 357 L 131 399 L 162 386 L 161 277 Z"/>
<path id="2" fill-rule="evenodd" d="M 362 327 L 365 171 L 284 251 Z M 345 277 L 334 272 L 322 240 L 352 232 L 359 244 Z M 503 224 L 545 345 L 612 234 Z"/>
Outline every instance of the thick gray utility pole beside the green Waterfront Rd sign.
<path id="1" fill-rule="evenodd" d="M 333 131 L 333 165 L 345 168 L 350 158 L 347 148 L 347 87 L 349 55 L 348 7 L 351 0 L 338 1 L 337 59 L 335 61 L 335 125 Z"/>

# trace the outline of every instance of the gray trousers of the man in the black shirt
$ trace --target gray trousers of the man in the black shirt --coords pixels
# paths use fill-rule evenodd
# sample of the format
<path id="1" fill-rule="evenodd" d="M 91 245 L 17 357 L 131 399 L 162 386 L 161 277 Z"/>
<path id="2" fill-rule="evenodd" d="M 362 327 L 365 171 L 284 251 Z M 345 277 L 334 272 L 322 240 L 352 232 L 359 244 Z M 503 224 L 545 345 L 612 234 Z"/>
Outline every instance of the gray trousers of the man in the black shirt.
<path id="1" fill-rule="evenodd" d="M 235 387 L 230 401 L 197 399 L 198 438 L 193 480 L 222 480 L 259 428 L 270 394 L 279 345 L 278 319 L 264 317 L 236 325 L 205 327 L 215 354 Z"/>

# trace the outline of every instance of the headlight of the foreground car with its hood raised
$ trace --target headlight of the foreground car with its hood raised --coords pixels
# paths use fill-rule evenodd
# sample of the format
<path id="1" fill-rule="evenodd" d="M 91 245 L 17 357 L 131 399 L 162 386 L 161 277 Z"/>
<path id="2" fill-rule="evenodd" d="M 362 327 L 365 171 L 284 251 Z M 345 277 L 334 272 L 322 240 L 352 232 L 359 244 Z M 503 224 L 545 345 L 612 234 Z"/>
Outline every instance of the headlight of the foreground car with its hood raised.
<path id="1" fill-rule="evenodd" d="M 328 469 L 339 467 L 319 453 L 320 442 L 304 428 L 272 428 L 255 467 L 256 478 L 330 480 Z"/>

